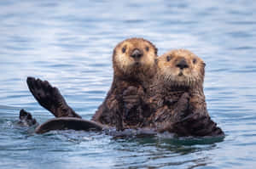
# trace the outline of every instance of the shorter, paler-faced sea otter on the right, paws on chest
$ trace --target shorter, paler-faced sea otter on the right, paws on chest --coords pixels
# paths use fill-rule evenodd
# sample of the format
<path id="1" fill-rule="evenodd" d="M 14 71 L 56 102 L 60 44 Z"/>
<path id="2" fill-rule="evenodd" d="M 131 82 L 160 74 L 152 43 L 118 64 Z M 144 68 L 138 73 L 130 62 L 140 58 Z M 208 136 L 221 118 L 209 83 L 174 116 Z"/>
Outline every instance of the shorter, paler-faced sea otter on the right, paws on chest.
<path id="1" fill-rule="evenodd" d="M 151 127 L 179 136 L 224 134 L 207 112 L 203 91 L 205 65 L 185 49 L 172 50 L 158 58 L 157 75 L 148 97 L 154 111 L 148 120 Z"/>

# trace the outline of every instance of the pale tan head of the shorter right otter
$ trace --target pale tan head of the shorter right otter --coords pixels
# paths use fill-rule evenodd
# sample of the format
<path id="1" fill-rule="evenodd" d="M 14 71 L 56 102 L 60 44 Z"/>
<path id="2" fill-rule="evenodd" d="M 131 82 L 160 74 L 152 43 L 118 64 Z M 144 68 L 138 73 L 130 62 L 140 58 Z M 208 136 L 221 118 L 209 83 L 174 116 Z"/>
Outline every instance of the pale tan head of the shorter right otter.
<path id="1" fill-rule="evenodd" d="M 160 80 L 171 87 L 193 87 L 204 81 L 205 63 L 189 50 L 172 50 L 161 55 L 158 69 Z"/>

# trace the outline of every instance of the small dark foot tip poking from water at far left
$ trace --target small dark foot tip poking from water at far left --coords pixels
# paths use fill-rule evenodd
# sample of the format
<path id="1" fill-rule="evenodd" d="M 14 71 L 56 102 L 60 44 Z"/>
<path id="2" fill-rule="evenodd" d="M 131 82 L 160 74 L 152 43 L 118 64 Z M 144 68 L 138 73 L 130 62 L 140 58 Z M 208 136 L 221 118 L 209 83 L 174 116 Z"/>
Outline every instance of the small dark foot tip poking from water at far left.
<path id="1" fill-rule="evenodd" d="M 32 117 L 32 115 L 26 110 L 20 110 L 20 121 L 18 124 L 22 127 L 31 127 L 34 125 L 38 125 L 36 119 Z"/>

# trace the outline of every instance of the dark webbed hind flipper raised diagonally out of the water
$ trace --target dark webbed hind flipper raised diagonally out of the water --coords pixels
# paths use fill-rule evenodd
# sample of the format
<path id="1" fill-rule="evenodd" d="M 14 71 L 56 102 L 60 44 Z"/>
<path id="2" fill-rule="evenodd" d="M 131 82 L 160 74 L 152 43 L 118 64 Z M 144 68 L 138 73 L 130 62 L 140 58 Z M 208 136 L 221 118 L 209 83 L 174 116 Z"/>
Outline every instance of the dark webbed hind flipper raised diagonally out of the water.
<path id="1" fill-rule="evenodd" d="M 81 118 L 80 115 L 76 114 L 67 105 L 58 88 L 52 87 L 49 82 L 41 81 L 34 77 L 27 77 L 26 83 L 34 98 L 38 100 L 38 103 L 46 110 L 49 110 L 55 117 Z"/>

